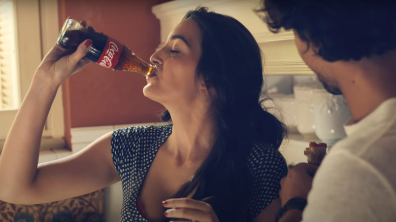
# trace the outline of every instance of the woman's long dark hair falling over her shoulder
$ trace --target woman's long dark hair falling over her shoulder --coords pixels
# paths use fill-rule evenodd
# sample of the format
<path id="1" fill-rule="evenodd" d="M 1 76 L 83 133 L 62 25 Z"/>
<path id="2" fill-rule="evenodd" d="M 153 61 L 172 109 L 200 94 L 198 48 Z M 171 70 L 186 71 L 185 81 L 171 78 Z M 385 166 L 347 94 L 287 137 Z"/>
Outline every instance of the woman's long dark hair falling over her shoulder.
<path id="1" fill-rule="evenodd" d="M 255 143 L 278 149 L 286 128 L 259 101 L 263 85 L 261 51 L 248 29 L 236 19 L 199 7 L 188 12 L 202 31 L 202 55 L 196 78 L 202 78 L 210 94 L 216 140 L 208 158 L 175 197 L 208 197 L 220 221 L 235 221 L 250 200 L 252 181 L 247 157 Z M 169 121 L 169 112 L 162 115 Z M 234 210 L 233 210 L 234 209 Z M 226 213 L 219 213 L 221 211 Z M 228 216 L 228 219 L 224 216 Z"/>

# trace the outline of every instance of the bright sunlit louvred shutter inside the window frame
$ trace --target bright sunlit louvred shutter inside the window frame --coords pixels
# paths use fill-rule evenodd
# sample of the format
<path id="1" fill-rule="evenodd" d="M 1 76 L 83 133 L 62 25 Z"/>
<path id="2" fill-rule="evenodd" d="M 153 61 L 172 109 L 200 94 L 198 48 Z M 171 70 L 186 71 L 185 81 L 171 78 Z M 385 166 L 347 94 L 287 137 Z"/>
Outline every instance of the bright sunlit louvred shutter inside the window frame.
<path id="1" fill-rule="evenodd" d="M 19 103 L 14 11 L 13 0 L 0 0 L 0 109 Z"/>

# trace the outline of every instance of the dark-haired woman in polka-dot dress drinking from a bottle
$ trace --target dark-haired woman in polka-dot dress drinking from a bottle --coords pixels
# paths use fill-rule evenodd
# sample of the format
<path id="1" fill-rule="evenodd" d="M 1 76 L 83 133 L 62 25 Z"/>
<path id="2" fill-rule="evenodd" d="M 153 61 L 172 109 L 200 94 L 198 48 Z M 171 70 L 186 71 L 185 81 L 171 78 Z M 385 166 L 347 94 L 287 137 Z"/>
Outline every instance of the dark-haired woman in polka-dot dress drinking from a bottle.
<path id="1" fill-rule="evenodd" d="M 258 101 L 260 50 L 240 22 L 205 8 L 187 13 L 150 58 L 143 92 L 167 108 L 162 120 L 171 124 L 118 129 L 37 166 L 56 90 L 88 64 L 91 45 L 72 54 L 54 46 L 38 67 L 0 159 L 0 199 L 50 202 L 121 180 L 121 221 L 274 220 L 285 131 Z"/>

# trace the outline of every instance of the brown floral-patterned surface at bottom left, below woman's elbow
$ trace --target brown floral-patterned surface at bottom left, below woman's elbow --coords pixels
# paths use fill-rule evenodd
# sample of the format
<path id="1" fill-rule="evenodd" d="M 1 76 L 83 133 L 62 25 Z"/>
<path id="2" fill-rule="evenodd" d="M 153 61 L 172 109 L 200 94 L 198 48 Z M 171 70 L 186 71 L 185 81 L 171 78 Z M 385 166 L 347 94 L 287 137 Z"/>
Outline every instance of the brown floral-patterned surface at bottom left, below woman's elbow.
<path id="1" fill-rule="evenodd" d="M 18 205 L 0 201 L 0 222 L 103 222 L 104 193 L 46 204 Z"/>

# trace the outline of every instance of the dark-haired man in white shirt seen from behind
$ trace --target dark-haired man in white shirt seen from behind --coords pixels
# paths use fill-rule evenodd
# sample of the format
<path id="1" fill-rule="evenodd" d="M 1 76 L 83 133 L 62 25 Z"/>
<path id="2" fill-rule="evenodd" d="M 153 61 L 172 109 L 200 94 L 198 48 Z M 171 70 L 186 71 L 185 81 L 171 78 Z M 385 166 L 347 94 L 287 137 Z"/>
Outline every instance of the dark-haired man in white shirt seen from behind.
<path id="1" fill-rule="evenodd" d="M 282 179 L 279 221 L 396 221 L 396 2 L 263 3 L 271 30 L 294 31 L 303 60 L 352 113 L 316 174 L 302 163 Z"/>

